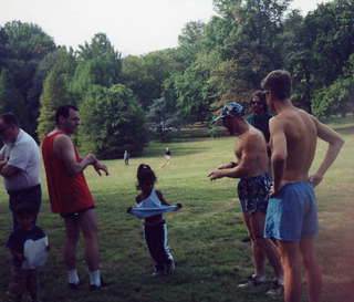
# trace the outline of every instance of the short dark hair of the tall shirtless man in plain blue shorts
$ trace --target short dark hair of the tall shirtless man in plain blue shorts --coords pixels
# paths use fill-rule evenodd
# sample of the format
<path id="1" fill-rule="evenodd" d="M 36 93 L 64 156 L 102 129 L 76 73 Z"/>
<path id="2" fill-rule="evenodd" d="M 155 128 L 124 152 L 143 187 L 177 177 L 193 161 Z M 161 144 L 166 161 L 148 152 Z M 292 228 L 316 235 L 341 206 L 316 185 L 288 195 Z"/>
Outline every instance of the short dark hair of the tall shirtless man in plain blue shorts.
<path id="1" fill-rule="evenodd" d="M 291 75 L 288 71 L 270 72 L 262 81 L 262 88 L 270 91 L 277 98 L 283 101 L 291 94 Z"/>

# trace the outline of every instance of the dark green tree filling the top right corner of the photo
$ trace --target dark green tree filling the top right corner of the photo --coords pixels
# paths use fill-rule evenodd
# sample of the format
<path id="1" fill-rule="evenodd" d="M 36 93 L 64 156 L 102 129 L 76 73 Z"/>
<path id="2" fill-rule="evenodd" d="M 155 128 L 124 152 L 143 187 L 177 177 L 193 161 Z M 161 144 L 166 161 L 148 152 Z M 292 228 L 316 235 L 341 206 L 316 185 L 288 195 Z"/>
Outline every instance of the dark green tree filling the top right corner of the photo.
<path id="1" fill-rule="evenodd" d="M 299 14 L 284 22 L 284 65 L 294 76 L 294 101 L 311 112 L 319 110 L 319 95 L 325 93 L 322 88 L 334 84 L 333 92 L 343 84 L 343 67 L 354 52 L 354 3 L 334 0 L 305 18 Z"/>

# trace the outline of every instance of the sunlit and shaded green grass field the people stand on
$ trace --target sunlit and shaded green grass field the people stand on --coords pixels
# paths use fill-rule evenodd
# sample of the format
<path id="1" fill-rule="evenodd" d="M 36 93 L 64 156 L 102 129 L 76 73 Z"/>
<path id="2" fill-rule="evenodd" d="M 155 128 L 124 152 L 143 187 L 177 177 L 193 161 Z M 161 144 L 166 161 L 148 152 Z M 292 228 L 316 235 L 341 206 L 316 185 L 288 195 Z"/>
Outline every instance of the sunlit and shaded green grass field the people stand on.
<path id="1" fill-rule="evenodd" d="M 354 301 L 354 128 L 342 131 L 344 149 L 323 183 L 316 189 L 320 204 L 321 232 L 317 253 L 323 270 L 323 302 Z M 247 235 L 242 223 L 236 181 L 206 177 L 217 165 L 233 159 L 235 139 L 194 139 L 190 142 L 152 143 L 143 157 L 107 160 L 108 177 L 98 177 L 88 168 L 86 177 L 94 195 L 100 218 L 101 258 L 104 278 L 113 284 L 101 292 L 88 292 L 87 272 L 79 247 L 79 272 L 84 283 L 79 291 L 66 288 L 61 246 L 64 229 L 61 218 L 51 214 L 44 186 L 44 200 L 39 225 L 48 232 L 52 246 L 42 275 L 42 301 L 50 302 L 252 302 L 274 301 L 264 295 L 267 287 L 239 290 L 236 284 L 252 273 L 249 244 L 240 242 Z M 160 168 L 163 153 L 173 153 L 169 166 Z M 317 160 L 324 144 L 319 144 Z M 169 246 L 177 270 L 167 278 L 152 278 L 153 262 L 143 240 L 142 222 L 126 215 L 134 205 L 135 174 L 138 164 L 150 165 L 166 199 L 184 208 L 166 216 Z M 44 177 L 43 177 L 44 178 Z M 10 231 L 8 197 L 0 191 L 0 302 L 6 295 L 9 253 L 4 248 Z M 271 270 L 268 269 L 269 275 Z M 279 300 L 281 301 L 281 300 Z M 303 301 L 306 301 L 303 299 Z"/>

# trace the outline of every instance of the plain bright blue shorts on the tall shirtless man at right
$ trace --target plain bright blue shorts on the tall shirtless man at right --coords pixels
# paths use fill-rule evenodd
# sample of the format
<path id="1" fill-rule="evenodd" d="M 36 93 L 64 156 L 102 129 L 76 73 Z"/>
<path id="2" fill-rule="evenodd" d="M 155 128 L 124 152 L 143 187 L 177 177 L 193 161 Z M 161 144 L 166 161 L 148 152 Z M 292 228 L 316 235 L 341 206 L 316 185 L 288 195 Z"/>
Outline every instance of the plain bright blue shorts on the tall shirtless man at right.
<path id="1" fill-rule="evenodd" d="M 300 241 L 319 232 L 317 202 L 310 181 L 285 185 L 269 199 L 264 237 Z"/>

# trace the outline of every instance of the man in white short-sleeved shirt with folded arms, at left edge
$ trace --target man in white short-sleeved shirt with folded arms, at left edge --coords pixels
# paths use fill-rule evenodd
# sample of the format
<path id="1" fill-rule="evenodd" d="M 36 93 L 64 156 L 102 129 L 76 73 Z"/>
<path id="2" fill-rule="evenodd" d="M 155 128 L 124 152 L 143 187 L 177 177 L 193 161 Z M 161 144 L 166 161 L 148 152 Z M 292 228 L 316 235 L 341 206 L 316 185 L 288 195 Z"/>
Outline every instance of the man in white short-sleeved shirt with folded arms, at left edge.
<path id="1" fill-rule="evenodd" d="M 35 140 L 19 127 L 12 113 L 0 116 L 0 175 L 10 196 L 10 209 L 25 202 L 38 215 L 42 191 L 40 186 L 40 152 Z M 13 228 L 17 222 L 13 219 Z"/>

